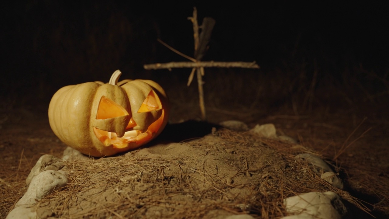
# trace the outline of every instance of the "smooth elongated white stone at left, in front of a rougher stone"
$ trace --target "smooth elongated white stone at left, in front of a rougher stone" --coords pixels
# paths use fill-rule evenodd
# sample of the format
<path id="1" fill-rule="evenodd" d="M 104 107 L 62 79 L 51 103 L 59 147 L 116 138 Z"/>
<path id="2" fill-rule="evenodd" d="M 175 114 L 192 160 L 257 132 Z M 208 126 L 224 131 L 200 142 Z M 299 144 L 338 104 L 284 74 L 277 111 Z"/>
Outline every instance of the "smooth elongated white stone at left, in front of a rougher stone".
<path id="1" fill-rule="evenodd" d="M 32 179 L 26 193 L 16 203 L 16 206 L 36 203 L 54 190 L 59 190 L 67 184 L 68 177 L 63 172 L 55 170 L 43 171 Z"/>

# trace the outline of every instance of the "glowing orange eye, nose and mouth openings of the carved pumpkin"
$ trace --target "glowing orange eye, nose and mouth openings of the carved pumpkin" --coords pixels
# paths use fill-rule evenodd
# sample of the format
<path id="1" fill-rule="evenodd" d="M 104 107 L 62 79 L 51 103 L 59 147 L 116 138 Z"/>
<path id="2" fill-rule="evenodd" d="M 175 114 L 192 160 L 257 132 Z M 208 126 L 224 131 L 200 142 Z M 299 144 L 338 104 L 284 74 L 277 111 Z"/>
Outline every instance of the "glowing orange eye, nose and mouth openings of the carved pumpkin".
<path id="1" fill-rule="evenodd" d="M 151 112 L 154 110 L 162 109 L 161 101 L 159 100 L 156 93 L 151 90 L 145 100 L 142 102 L 142 105 L 138 109 L 137 113 Z M 100 103 L 97 109 L 96 119 L 107 119 L 114 117 L 121 117 L 129 115 L 126 109 L 112 101 L 111 99 L 102 96 Z M 152 134 L 158 132 L 159 128 L 163 123 L 164 111 L 162 111 L 161 116 L 149 125 L 147 131 L 142 132 L 139 130 L 129 130 L 137 125 L 137 123 L 130 119 L 126 127 L 124 136 L 119 138 L 115 132 L 104 131 L 93 127 L 93 130 L 96 134 L 96 137 L 105 145 L 113 145 L 114 148 L 124 148 L 127 147 L 128 143 L 136 143 L 136 145 L 141 145 L 145 141 L 148 141 L 152 138 Z"/>

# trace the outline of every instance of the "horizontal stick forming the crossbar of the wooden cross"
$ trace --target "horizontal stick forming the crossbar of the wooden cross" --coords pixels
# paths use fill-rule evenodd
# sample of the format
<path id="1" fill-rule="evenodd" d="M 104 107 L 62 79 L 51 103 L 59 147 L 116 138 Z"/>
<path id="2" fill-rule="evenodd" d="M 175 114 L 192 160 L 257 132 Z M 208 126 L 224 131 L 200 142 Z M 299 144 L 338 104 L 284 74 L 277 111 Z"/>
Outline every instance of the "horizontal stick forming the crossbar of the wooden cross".
<path id="1" fill-rule="evenodd" d="M 255 62 L 168 62 L 168 63 L 156 63 L 143 65 L 144 69 L 172 69 L 172 68 L 212 68 L 212 67 L 224 67 L 224 68 L 246 68 L 246 69 L 259 69 L 259 65 Z"/>

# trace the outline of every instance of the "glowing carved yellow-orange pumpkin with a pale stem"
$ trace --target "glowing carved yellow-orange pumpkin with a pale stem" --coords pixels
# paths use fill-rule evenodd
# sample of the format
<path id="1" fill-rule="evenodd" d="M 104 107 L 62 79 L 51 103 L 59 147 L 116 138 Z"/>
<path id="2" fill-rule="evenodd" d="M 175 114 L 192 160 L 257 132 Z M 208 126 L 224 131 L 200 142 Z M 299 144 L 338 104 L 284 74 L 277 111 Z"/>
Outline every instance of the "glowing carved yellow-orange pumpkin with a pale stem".
<path id="1" fill-rule="evenodd" d="M 151 141 L 168 121 L 165 91 L 151 80 L 69 85 L 58 90 L 49 104 L 54 134 L 83 154 L 100 157 L 138 148 Z"/>

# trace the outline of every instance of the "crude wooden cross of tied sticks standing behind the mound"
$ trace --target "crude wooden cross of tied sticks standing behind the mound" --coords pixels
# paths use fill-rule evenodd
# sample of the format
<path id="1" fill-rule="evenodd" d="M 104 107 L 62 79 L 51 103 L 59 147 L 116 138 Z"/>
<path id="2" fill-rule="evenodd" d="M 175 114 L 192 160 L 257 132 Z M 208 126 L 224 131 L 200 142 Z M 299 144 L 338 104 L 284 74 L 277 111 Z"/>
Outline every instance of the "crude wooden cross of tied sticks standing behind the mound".
<path id="1" fill-rule="evenodd" d="M 203 92 L 203 79 L 202 76 L 204 76 L 204 68 L 205 67 L 235 67 L 235 68 L 249 68 L 249 69 L 259 69 L 259 66 L 254 62 L 202 62 L 201 59 L 204 57 L 205 52 L 207 51 L 207 46 L 211 37 L 212 29 L 215 26 L 215 20 L 213 18 L 205 17 L 203 19 L 203 23 L 201 26 L 198 26 L 197 23 L 197 9 L 194 7 L 193 9 L 193 17 L 189 17 L 189 20 L 193 23 L 193 36 L 195 38 L 195 58 L 189 57 L 183 53 L 180 53 L 176 49 L 172 48 L 165 42 L 158 39 L 158 41 L 169 48 L 170 50 L 174 51 L 175 53 L 181 55 L 182 57 L 185 57 L 192 62 L 168 62 L 168 63 L 156 63 L 156 64 L 147 64 L 144 65 L 144 69 L 151 70 L 151 69 L 169 69 L 172 68 L 192 68 L 192 72 L 189 75 L 187 86 L 189 86 L 193 80 L 193 76 L 195 75 L 195 72 L 197 73 L 197 84 L 198 84 L 198 94 L 200 99 L 200 110 L 202 114 L 202 120 L 206 120 L 207 116 L 205 113 L 205 104 L 204 104 L 204 92 Z M 199 28 L 202 29 L 200 35 L 199 35 Z"/>

